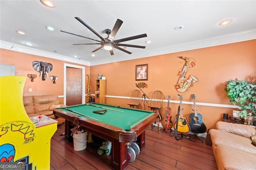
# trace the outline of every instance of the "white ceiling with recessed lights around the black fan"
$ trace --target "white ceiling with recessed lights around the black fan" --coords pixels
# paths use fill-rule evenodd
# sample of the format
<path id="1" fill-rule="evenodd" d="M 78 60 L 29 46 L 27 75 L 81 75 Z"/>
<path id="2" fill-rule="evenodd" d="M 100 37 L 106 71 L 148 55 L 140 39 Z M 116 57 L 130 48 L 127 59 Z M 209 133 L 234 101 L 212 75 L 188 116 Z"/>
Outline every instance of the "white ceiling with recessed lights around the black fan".
<path id="1" fill-rule="evenodd" d="M 97 65 L 256 39 L 256 0 L 54 2 L 56 8 L 48 8 L 40 0 L 0 0 L 1 47 L 28 53 L 39 51 L 48 57 L 57 56 L 66 60 L 74 60 L 73 55 L 78 55 L 80 60 L 76 61 Z M 146 38 L 123 42 L 144 45 L 146 48 L 127 47 L 126 50 L 132 54 L 113 49 L 112 56 L 103 49 L 96 51 L 96 56 L 92 57 L 91 51 L 100 45 L 72 44 L 96 41 L 60 32 L 64 30 L 100 40 L 74 17 L 80 17 L 104 38 L 107 37 L 104 30 L 112 29 L 116 20 L 120 19 L 124 23 L 115 40 L 146 33 Z M 226 19 L 232 19 L 233 22 L 226 26 L 218 25 Z M 184 26 L 182 30 L 174 30 L 180 25 Z M 51 32 L 45 26 L 53 26 L 56 30 Z M 17 34 L 16 30 L 26 34 Z M 147 40 L 152 43 L 145 43 Z M 31 42 L 34 46 L 24 47 L 24 42 Z"/>

